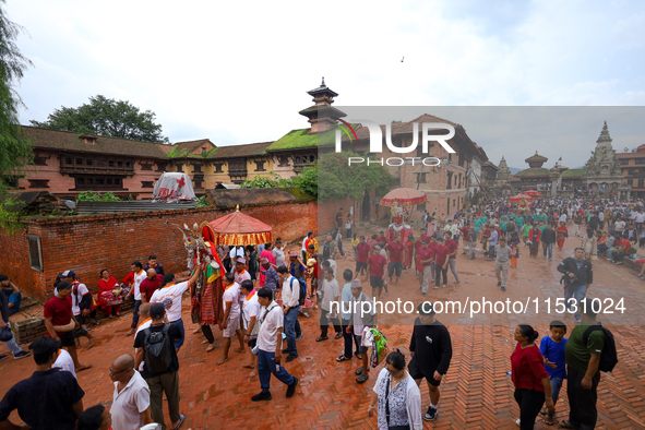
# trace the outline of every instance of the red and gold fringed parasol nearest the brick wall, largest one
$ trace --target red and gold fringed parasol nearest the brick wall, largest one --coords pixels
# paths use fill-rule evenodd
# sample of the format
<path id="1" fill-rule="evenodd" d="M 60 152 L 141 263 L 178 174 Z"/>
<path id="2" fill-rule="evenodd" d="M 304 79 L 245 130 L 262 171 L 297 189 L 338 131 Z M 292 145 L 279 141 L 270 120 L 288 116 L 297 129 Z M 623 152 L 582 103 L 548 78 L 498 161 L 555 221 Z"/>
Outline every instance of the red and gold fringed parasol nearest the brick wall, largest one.
<path id="1" fill-rule="evenodd" d="M 252 216 L 236 212 L 210 223 L 202 223 L 202 236 L 215 244 L 247 246 L 273 241 L 270 225 Z"/>

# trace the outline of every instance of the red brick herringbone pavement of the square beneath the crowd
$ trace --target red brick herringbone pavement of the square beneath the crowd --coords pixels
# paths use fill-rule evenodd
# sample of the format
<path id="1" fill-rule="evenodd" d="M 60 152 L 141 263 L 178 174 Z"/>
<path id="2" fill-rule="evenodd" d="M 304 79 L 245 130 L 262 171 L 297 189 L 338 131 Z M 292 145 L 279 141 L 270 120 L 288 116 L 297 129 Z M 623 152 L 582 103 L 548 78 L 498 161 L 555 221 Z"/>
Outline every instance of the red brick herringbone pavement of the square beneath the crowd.
<path id="1" fill-rule="evenodd" d="M 521 258 L 519 267 L 512 270 L 509 295 L 518 298 L 535 296 L 536 292 L 559 297 L 561 287 L 556 265 L 572 253 L 577 240 L 571 239 L 566 249 L 556 251 L 553 262 L 539 258 L 528 259 L 528 252 Z M 614 289 L 628 296 L 628 306 L 640 312 L 643 308 L 645 283 L 624 267 L 613 266 L 606 261 L 595 263 L 594 287 L 590 297 L 604 297 Z M 353 266 L 353 259 L 339 261 L 338 277 L 342 270 Z M 457 268 L 461 270 L 462 285 L 441 290 L 430 290 L 428 298 L 462 298 L 478 291 L 487 298 L 502 297 L 495 287 L 492 263 L 483 260 L 466 261 L 459 255 Z M 449 273 L 452 282 L 452 275 Z M 620 287 L 620 289 L 618 288 Z M 536 289 L 537 288 L 537 289 Z M 403 291 L 406 297 L 420 301 L 418 284 L 410 271 L 405 272 L 401 287 L 383 299 L 396 297 Z M 367 291 L 369 294 L 369 290 Z M 542 296 L 540 296 L 542 297 Z M 189 304 L 184 300 L 184 321 L 189 321 Z M 441 320 L 441 319 L 440 319 Z M 505 374 L 510 371 L 509 357 L 514 348 L 513 324 L 522 319 L 500 319 L 498 325 L 451 325 L 449 326 L 454 355 L 451 369 L 441 385 L 442 398 L 440 416 L 433 422 L 425 422 L 427 429 L 515 429 L 514 419 L 518 416 L 513 399 L 513 386 Z M 187 329 L 187 342 L 179 354 L 181 409 L 187 414 L 184 429 L 375 429 L 375 420 L 367 417 L 367 405 L 378 371 L 372 369 L 370 380 L 365 385 L 354 381 L 353 370 L 358 360 L 338 363 L 335 361 L 343 347 L 343 341 L 330 338 L 315 343 L 319 329 L 314 316 L 301 318 L 304 332 L 298 343 L 299 358 L 287 363 L 286 368 L 300 378 L 300 385 L 294 398 L 285 398 L 285 390 L 275 379 L 272 380 L 273 399 L 268 403 L 251 403 L 250 397 L 260 391 L 258 378 L 249 380 L 248 369 L 241 368 L 241 357 L 231 353 L 231 360 L 220 367 L 215 366 L 219 348 L 205 353 L 202 336 Z M 573 327 L 573 319 L 564 321 Z M 606 320 L 602 320 L 606 321 Z M 611 322 L 611 319 L 608 319 Z M 112 385 L 109 381 L 108 366 L 120 354 L 132 351 L 132 337 L 124 337 L 130 315 L 101 324 L 93 331 L 97 337 L 91 350 L 81 350 L 81 360 L 92 362 L 91 370 L 79 374 L 79 382 L 85 390 L 86 407 L 96 403 L 111 402 Z M 616 322 L 621 322 L 618 316 Z M 628 321 L 629 322 L 629 321 Z M 188 326 L 188 324 L 187 324 Z M 391 342 L 391 347 L 399 347 L 407 354 L 410 327 L 382 325 Z M 536 327 L 541 335 L 548 326 Z M 598 390 L 598 429 L 645 429 L 645 329 L 641 325 L 611 326 L 616 335 L 620 362 L 612 375 L 604 375 Z M 332 330 L 333 333 L 333 330 Z M 218 335 L 216 334 L 216 337 Z M 219 341 L 217 341 L 219 342 Z M 0 393 L 34 371 L 33 360 L 4 360 L 0 362 Z M 423 407 L 428 406 L 428 389 L 421 389 Z M 565 386 L 561 402 L 557 406 L 558 418 L 566 418 L 568 404 Z M 15 413 L 12 419 L 17 420 Z M 168 418 L 166 418 L 168 420 Z M 550 429 L 540 418 L 536 429 Z M 557 428 L 557 427 L 553 427 Z"/>

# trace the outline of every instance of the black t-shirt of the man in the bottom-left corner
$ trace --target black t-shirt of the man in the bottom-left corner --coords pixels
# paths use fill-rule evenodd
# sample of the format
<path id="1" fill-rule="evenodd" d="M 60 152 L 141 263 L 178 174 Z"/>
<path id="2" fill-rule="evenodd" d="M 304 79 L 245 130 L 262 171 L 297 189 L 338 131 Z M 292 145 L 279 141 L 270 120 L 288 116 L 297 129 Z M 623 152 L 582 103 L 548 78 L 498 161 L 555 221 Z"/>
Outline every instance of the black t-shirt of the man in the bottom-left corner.
<path id="1" fill-rule="evenodd" d="M 17 409 L 20 418 L 33 430 L 74 430 L 76 414 L 72 405 L 85 393 L 68 371 L 36 371 L 13 385 L 0 403 L 0 422 Z"/>

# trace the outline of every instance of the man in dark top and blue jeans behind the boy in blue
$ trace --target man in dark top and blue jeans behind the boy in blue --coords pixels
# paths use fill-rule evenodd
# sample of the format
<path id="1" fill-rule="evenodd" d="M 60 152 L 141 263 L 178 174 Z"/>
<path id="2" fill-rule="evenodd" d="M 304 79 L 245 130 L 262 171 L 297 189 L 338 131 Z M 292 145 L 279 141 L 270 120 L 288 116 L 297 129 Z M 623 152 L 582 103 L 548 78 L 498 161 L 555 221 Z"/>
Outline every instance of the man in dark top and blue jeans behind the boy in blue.
<path id="1" fill-rule="evenodd" d="M 581 322 L 581 300 L 586 297 L 587 289 L 594 282 L 592 262 L 585 259 L 585 250 L 576 248 L 573 258 L 569 256 L 558 265 L 558 272 L 564 275 L 560 280 L 564 285 L 564 306 L 569 310 L 575 303 L 574 318 L 576 322 Z"/>

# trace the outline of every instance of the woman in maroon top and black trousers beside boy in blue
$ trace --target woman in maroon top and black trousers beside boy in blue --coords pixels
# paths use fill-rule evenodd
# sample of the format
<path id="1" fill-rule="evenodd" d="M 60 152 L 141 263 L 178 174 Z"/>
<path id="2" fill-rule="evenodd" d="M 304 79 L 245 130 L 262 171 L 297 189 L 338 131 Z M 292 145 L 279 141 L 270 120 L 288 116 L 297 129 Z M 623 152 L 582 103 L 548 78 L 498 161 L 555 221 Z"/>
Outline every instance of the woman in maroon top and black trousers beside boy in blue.
<path id="1" fill-rule="evenodd" d="M 545 358 L 535 344 L 537 338 L 538 333 L 530 325 L 515 327 L 517 346 L 511 355 L 511 377 L 515 385 L 515 402 L 519 406 L 519 419 L 515 422 L 522 430 L 533 430 L 545 402 L 550 414 L 556 411 L 551 398 L 551 380 L 545 370 Z M 548 397 L 545 393 L 548 393 Z"/>

